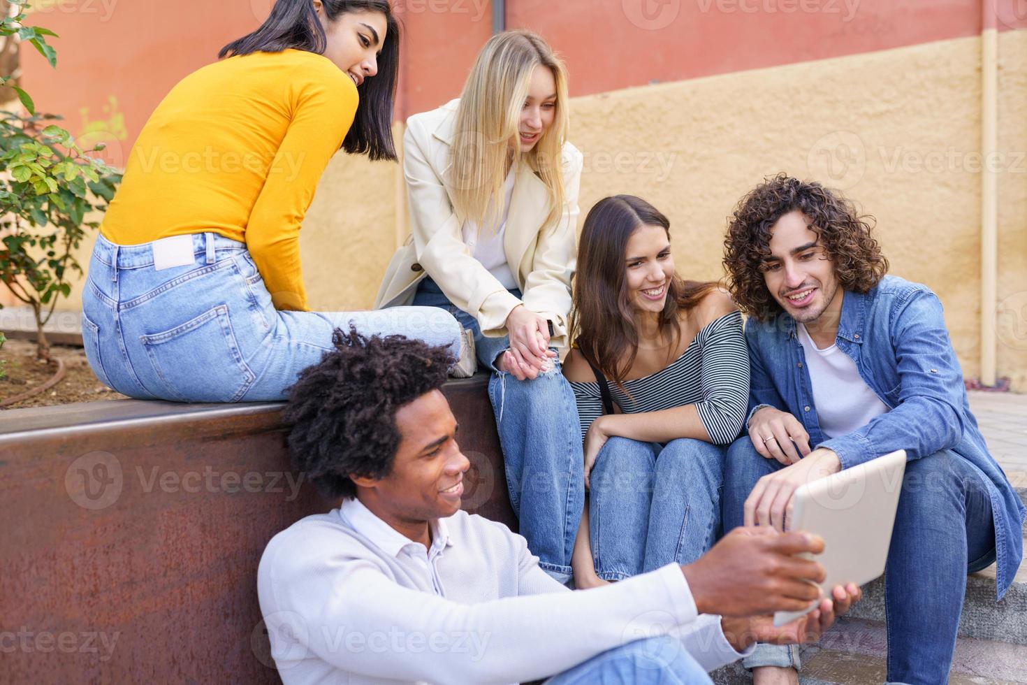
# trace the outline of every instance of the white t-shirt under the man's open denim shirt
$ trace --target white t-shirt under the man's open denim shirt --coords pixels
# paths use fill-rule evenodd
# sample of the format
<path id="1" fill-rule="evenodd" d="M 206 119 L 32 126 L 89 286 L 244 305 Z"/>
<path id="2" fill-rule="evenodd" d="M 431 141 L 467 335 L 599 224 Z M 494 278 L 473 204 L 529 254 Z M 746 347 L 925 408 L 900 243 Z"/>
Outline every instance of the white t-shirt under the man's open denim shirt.
<path id="1" fill-rule="evenodd" d="M 855 361 L 837 344 L 824 349 L 813 344 L 802 324 L 797 325 L 799 342 L 806 352 L 809 381 L 821 430 L 828 437 L 845 435 L 888 411 L 888 406 L 860 376 Z"/>

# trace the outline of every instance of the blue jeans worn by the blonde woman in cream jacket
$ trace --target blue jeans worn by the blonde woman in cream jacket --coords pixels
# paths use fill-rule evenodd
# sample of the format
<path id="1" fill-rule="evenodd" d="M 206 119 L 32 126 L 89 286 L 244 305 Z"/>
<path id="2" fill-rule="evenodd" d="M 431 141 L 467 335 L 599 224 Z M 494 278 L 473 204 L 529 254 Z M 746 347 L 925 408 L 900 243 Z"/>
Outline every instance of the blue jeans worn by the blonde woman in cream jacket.
<path id="1" fill-rule="evenodd" d="M 539 567 L 566 583 L 584 506 L 584 459 L 574 391 L 560 363 L 534 380 L 519 381 L 494 365 L 507 339 L 483 336 L 474 317 L 451 304 L 430 278 L 418 286 L 414 305 L 442 307 L 473 333 L 479 366 L 492 370 L 489 399 L 520 533 Z"/>

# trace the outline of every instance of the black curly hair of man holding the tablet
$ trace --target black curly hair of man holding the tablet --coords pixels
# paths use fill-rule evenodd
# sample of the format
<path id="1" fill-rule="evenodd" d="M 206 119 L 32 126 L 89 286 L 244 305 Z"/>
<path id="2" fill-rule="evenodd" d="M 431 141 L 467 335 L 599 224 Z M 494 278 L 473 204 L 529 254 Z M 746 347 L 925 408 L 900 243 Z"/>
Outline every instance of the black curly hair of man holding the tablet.
<path id="1" fill-rule="evenodd" d="M 454 359 L 445 346 L 400 335 L 369 338 L 352 326 L 348 334 L 336 329 L 332 344 L 286 389 L 282 418 L 293 467 L 325 496 L 351 498 L 350 473 L 379 479 L 391 471 L 401 439 L 396 411 L 441 388 Z"/>

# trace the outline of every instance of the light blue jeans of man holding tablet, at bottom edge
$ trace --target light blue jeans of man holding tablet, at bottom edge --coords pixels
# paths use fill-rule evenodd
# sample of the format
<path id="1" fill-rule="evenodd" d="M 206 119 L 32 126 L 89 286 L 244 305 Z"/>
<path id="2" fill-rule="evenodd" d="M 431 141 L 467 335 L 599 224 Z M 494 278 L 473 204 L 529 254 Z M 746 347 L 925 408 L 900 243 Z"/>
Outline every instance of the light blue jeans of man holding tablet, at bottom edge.
<path id="1" fill-rule="evenodd" d="M 712 683 L 679 640 L 636 640 L 594 656 L 544 685 L 691 685 Z"/>

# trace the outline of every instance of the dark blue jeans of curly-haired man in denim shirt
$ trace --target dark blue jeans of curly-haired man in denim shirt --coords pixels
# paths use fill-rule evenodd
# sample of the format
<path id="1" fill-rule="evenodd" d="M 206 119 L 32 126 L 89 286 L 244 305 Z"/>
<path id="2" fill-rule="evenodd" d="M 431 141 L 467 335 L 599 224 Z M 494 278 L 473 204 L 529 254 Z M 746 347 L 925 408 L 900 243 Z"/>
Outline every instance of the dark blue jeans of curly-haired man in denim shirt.
<path id="1" fill-rule="evenodd" d="M 731 444 L 726 530 L 741 525 L 743 505 L 756 482 L 782 467 L 761 457 L 748 436 Z M 951 450 L 907 462 L 884 569 L 889 683 L 948 682 L 966 574 L 994 561 L 995 528 L 984 473 Z M 744 664 L 785 665 L 783 649 L 759 645 Z"/>

